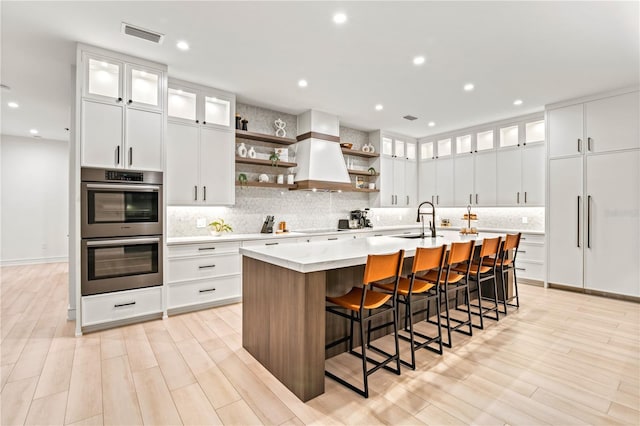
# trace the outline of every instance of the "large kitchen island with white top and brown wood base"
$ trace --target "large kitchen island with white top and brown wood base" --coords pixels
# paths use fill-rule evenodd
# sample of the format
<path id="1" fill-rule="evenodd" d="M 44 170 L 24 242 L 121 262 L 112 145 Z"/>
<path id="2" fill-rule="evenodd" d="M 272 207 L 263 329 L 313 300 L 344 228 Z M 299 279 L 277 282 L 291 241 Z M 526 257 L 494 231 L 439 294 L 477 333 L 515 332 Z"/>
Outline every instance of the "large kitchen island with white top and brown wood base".
<path id="1" fill-rule="evenodd" d="M 417 247 L 503 235 L 438 234 L 241 248 L 243 347 L 302 401 L 324 393 L 324 361 L 335 355 L 325 340 L 346 332 L 345 321 L 327 323 L 325 296 L 360 285 L 367 255 L 405 250 L 406 271 Z"/>

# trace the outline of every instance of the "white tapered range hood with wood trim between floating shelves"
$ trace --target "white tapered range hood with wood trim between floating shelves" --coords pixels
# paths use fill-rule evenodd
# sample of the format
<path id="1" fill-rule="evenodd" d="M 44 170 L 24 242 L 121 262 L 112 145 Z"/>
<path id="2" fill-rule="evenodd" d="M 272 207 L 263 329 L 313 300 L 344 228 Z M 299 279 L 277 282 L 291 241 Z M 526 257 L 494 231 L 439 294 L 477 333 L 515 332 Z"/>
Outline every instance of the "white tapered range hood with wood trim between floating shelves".
<path id="1" fill-rule="evenodd" d="M 297 189 L 307 191 L 353 190 L 340 148 L 338 117 L 310 110 L 298 116 L 295 144 Z"/>

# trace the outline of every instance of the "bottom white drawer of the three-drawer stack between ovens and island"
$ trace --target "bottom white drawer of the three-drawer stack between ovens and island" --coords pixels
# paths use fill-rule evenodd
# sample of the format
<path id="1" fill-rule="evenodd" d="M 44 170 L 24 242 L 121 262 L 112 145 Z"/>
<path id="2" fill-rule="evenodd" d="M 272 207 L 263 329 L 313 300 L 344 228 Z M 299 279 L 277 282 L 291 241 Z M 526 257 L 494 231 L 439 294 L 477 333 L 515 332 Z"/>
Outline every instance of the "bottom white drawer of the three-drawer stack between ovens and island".
<path id="1" fill-rule="evenodd" d="M 169 309 L 242 297 L 242 276 L 169 284 Z"/>

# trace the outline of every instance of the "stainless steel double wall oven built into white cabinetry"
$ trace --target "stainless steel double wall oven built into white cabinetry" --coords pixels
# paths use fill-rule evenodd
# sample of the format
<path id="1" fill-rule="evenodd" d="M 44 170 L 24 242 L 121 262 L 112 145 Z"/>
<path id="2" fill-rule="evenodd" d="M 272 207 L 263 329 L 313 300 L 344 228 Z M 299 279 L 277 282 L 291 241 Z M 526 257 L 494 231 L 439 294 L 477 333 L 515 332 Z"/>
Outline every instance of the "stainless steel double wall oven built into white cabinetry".
<path id="1" fill-rule="evenodd" d="M 82 295 L 162 285 L 162 172 L 82 168 Z"/>

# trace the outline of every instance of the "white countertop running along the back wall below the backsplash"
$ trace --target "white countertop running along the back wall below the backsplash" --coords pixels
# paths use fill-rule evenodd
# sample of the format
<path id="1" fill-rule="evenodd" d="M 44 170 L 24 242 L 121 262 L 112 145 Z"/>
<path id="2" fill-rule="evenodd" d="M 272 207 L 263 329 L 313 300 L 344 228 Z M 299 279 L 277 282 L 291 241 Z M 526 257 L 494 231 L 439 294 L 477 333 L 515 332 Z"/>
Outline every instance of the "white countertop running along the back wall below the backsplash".
<path id="1" fill-rule="evenodd" d="M 233 242 L 233 241 L 255 241 L 255 240 L 270 240 L 273 238 L 297 238 L 297 237 L 309 237 L 312 235 L 342 235 L 342 234 L 361 234 L 361 233 L 376 233 L 376 232 L 389 232 L 389 231 L 402 231 L 402 230 L 415 230 L 416 232 L 420 232 L 421 226 L 419 224 L 415 225 L 395 225 L 395 226 L 375 226 L 373 228 L 363 228 L 363 229 L 350 229 L 344 231 L 334 231 L 334 230 L 314 230 L 314 229 L 301 229 L 296 230 L 294 232 L 287 232 L 283 234 L 225 234 L 219 237 L 213 237 L 209 235 L 204 236 L 195 236 L 195 237 L 169 237 L 167 238 L 168 245 L 179 245 L 179 244 L 194 244 L 194 243 L 211 243 L 211 242 Z M 458 231 L 460 228 L 458 227 L 450 227 L 450 228 L 438 228 L 438 231 Z M 544 231 L 532 231 L 532 230 L 522 230 L 522 229 L 491 229 L 491 228 L 478 228 L 478 231 L 482 234 L 481 237 L 485 237 L 485 233 L 516 233 L 522 232 L 523 234 L 533 234 L 533 235 L 544 235 Z M 428 233 L 429 230 L 427 229 Z"/>

